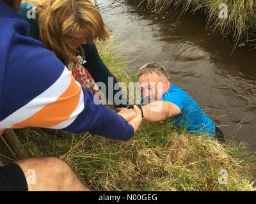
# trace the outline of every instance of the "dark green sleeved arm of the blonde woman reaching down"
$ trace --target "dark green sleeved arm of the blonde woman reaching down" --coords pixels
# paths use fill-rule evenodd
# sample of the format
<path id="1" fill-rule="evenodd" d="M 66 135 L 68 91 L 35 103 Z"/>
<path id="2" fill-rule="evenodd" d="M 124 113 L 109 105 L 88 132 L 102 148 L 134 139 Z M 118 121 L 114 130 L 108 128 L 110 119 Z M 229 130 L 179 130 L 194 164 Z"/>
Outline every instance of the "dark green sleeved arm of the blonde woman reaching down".
<path id="1" fill-rule="evenodd" d="M 88 71 L 90 72 L 90 74 L 92 75 L 92 77 L 96 83 L 103 82 L 106 85 L 106 87 L 107 87 L 106 94 L 107 94 L 108 98 L 109 98 L 109 94 L 112 92 L 112 90 L 109 90 L 109 87 L 115 87 L 115 85 L 118 87 L 117 90 L 113 90 L 114 96 L 116 93 L 120 92 L 121 89 L 118 86 L 118 84 L 116 84 L 116 83 L 118 83 L 116 78 L 113 76 L 113 74 L 109 71 L 109 69 L 106 67 L 106 65 L 100 58 L 100 55 L 99 55 L 99 52 L 97 50 L 95 43 L 85 45 L 84 53 L 85 53 L 85 58 L 87 61 L 86 64 L 84 64 L 84 66 L 88 69 Z M 113 85 L 111 85 L 111 84 L 109 85 L 109 78 L 112 79 Z M 110 97 L 109 99 L 112 101 L 114 96 Z M 127 100 L 125 97 L 122 97 L 122 99 L 123 100 L 122 100 L 121 104 L 116 104 L 115 103 L 116 101 L 112 101 L 112 102 L 114 102 L 114 104 L 117 105 L 118 107 L 119 107 L 119 105 L 120 105 L 120 107 L 122 107 L 122 106 L 126 107 Z"/>

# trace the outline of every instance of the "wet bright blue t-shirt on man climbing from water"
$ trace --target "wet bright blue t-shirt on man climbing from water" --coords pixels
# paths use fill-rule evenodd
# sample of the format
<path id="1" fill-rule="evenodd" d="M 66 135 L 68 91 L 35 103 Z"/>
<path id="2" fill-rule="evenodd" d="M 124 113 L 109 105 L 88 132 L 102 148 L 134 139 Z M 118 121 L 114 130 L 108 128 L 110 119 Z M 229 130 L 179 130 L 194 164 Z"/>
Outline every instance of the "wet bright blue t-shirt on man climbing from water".
<path id="1" fill-rule="evenodd" d="M 194 135 L 214 135 L 214 122 L 184 90 L 171 84 L 170 89 L 163 95 L 163 101 L 171 102 L 180 108 L 180 113 L 170 118 L 175 127 L 185 128 Z"/>

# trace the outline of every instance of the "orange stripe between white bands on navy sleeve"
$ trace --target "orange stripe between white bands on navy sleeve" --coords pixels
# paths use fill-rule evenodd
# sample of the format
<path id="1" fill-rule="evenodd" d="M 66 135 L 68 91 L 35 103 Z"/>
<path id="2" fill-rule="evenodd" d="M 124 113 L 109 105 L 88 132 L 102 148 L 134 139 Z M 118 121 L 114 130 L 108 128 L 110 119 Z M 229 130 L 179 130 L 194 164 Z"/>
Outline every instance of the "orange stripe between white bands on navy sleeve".
<path id="1" fill-rule="evenodd" d="M 54 103 L 45 105 L 39 112 L 19 124 L 15 124 L 12 128 L 29 126 L 47 128 L 68 120 L 79 103 L 81 91 L 81 87 L 76 84 L 74 77 L 72 77 L 67 90 Z"/>

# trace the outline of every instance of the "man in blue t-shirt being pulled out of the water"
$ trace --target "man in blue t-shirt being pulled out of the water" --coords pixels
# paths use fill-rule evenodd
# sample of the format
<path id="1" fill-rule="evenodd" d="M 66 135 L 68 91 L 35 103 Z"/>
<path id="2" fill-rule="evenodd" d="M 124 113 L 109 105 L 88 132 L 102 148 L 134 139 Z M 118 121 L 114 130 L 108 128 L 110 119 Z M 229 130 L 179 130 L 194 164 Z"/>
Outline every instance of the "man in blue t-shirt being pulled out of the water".
<path id="1" fill-rule="evenodd" d="M 207 135 L 223 142 L 223 133 L 214 122 L 184 90 L 169 80 L 166 69 L 157 62 L 140 69 L 138 82 L 143 102 L 148 103 L 142 106 L 143 118 L 150 122 L 170 119 L 173 126 L 184 128 L 188 133 Z"/>

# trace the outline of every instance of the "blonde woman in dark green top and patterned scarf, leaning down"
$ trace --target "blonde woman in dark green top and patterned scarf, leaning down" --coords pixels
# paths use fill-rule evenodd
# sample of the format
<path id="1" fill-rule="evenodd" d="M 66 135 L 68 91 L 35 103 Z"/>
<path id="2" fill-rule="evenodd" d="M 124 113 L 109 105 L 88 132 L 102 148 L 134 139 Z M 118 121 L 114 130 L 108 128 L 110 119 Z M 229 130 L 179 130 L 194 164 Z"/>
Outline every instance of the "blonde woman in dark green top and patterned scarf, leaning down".
<path id="1" fill-rule="evenodd" d="M 42 41 L 72 71 L 77 82 L 98 94 L 100 99 L 102 94 L 95 82 L 103 82 L 107 96 L 109 92 L 115 96 L 120 87 L 108 90 L 109 78 L 113 78 L 113 87 L 117 81 L 93 43 L 110 38 L 97 6 L 90 0 L 33 0 L 31 3 L 33 8 L 29 3 L 22 3 L 19 9 L 31 26 L 30 36 Z M 35 18 L 31 10 L 35 11 Z M 122 99 L 121 104 L 115 104 L 118 108 L 127 104 L 124 97 Z"/>

